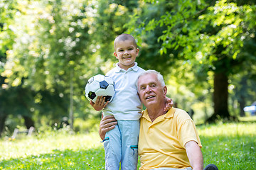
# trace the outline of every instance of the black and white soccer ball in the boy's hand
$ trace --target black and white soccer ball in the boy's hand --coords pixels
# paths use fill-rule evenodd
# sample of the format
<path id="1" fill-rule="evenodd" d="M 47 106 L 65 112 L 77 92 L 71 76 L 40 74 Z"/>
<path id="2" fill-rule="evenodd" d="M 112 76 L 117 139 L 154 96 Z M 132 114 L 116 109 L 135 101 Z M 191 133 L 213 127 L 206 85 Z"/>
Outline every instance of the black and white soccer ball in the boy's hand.
<path id="1" fill-rule="evenodd" d="M 91 77 L 85 86 L 85 96 L 93 103 L 95 103 L 97 96 L 104 96 L 105 102 L 111 102 L 114 97 L 114 81 L 102 74 Z"/>

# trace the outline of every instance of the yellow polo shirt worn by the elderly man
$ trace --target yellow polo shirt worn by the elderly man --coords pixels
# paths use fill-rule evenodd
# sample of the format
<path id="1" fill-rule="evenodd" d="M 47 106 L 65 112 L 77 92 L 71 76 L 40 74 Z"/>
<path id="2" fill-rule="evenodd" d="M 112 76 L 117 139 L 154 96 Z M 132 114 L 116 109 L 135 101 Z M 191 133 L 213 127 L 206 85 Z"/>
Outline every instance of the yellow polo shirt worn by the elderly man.
<path id="1" fill-rule="evenodd" d="M 140 120 L 139 169 L 191 167 L 185 144 L 191 140 L 202 147 L 196 125 L 186 111 L 171 108 L 151 122 L 147 110 Z"/>

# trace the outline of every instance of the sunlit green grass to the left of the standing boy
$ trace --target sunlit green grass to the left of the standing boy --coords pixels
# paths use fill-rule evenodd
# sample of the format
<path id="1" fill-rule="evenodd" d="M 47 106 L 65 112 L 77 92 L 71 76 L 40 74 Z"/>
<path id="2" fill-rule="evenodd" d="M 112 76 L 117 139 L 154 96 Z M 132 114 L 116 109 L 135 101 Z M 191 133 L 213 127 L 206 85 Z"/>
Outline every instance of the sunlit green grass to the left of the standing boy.
<path id="1" fill-rule="evenodd" d="M 39 137 L 4 140 L 0 148 L 0 169 L 104 169 L 105 164 L 97 132 L 48 132 Z"/>

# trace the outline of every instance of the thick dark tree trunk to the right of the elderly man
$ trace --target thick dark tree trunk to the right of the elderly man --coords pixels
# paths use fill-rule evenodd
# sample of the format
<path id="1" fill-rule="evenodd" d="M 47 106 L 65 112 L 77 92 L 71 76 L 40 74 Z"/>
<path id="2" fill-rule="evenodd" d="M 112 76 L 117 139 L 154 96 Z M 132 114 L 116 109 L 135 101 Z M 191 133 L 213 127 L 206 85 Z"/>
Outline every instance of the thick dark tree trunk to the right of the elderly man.
<path id="1" fill-rule="evenodd" d="M 214 113 L 206 120 L 207 122 L 213 122 L 218 118 L 230 119 L 230 113 L 228 112 L 228 76 L 225 72 L 215 72 L 214 74 Z"/>

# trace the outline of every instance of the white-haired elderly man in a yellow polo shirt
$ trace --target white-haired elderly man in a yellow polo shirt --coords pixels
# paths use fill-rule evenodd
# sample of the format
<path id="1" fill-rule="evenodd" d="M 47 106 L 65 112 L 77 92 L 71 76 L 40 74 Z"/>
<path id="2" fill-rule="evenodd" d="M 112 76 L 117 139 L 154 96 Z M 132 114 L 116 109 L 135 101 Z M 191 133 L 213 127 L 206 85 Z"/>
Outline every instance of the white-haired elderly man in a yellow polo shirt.
<path id="1" fill-rule="evenodd" d="M 146 106 L 140 120 L 139 169 L 203 170 L 201 141 L 196 126 L 186 111 L 171 108 L 164 111 L 167 88 L 159 72 L 148 70 L 137 79 L 139 98 Z M 100 136 L 114 128 L 113 118 L 103 118 Z M 218 169 L 209 164 L 207 170 Z"/>

